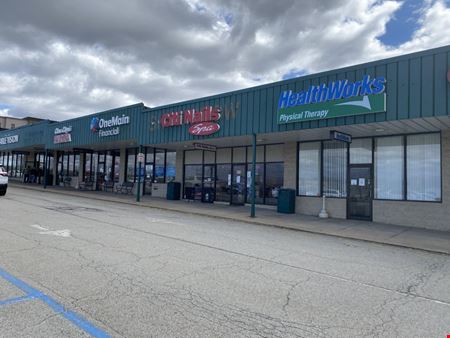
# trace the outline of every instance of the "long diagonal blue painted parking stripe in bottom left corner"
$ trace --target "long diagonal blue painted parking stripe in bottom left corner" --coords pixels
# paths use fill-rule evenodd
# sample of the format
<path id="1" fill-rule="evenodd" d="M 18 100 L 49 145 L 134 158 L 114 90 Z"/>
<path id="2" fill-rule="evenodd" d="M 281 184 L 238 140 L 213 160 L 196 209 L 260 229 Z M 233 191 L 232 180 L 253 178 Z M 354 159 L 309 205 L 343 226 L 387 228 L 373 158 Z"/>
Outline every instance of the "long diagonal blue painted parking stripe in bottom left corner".
<path id="1" fill-rule="evenodd" d="M 109 338 L 109 335 L 104 332 L 103 330 L 93 326 L 91 323 L 89 323 L 87 320 L 85 320 L 80 315 L 76 314 L 73 311 L 67 310 L 64 308 L 63 305 L 59 304 L 57 301 L 52 299 L 51 297 L 47 296 L 46 294 L 42 293 L 41 291 L 31 287 L 24 281 L 14 277 L 13 275 L 9 274 L 2 268 L 0 268 L 0 277 L 3 277 L 5 280 L 10 282 L 11 284 L 15 285 L 19 289 L 21 289 L 23 292 L 25 292 L 27 295 L 24 297 L 27 298 L 37 298 L 46 303 L 53 311 L 55 311 L 58 314 L 61 314 L 64 318 L 71 321 L 73 324 L 75 324 L 77 327 L 85 331 L 86 333 L 90 334 L 92 337 L 95 338 Z M 22 297 L 18 297 L 22 298 Z M 18 299 L 16 298 L 16 299 Z M 25 299 L 23 299 L 25 300 Z M 6 300 L 7 301 L 7 300 Z"/>

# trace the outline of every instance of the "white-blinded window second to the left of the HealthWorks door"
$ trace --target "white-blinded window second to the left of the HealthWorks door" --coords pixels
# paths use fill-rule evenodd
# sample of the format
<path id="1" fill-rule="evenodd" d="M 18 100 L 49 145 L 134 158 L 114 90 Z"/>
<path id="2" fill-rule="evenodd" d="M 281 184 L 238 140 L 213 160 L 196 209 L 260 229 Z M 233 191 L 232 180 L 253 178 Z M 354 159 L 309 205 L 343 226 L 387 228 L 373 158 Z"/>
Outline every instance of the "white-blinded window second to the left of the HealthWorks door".
<path id="1" fill-rule="evenodd" d="M 320 142 L 300 143 L 298 191 L 304 196 L 320 196 Z"/>

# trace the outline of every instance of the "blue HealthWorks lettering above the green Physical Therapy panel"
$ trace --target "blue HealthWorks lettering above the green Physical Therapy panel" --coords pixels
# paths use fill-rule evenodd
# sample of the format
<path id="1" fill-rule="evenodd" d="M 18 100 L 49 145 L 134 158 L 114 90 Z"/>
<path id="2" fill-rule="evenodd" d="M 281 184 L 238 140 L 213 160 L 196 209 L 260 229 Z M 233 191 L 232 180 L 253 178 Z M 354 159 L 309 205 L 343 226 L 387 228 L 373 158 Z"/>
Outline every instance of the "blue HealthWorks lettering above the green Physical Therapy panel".
<path id="1" fill-rule="evenodd" d="M 348 99 L 354 96 L 381 94 L 386 88 L 385 83 L 384 76 L 371 79 L 370 75 L 365 75 L 360 81 L 337 80 L 328 83 L 328 86 L 324 83 L 318 86 L 309 86 L 308 90 L 298 93 L 285 90 L 280 93 L 278 109 Z"/>

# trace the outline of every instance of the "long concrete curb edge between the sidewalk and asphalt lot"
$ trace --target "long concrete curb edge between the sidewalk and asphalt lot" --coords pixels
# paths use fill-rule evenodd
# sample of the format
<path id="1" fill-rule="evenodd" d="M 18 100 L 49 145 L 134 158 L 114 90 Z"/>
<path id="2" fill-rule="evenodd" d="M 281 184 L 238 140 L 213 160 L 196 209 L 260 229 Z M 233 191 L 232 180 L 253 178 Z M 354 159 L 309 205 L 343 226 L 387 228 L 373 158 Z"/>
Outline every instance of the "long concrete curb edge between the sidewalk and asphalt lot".
<path id="1" fill-rule="evenodd" d="M 98 201 L 105 201 L 105 202 L 112 202 L 112 203 L 120 203 L 120 204 L 127 204 L 127 205 L 134 205 L 134 206 L 139 206 L 139 207 L 146 207 L 146 208 L 152 208 L 152 209 L 158 209 L 158 210 L 165 210 L 165 211 L 173 211 L 173 212 L 177 212 L 177 213 L 183 213 L 183 214 L 190 214 L 190 215 L 195 215 L 195 216 L 203 216 L 203 217 L 212 217 L 212 218 L 219 218 L 219 219 L 223 219 L 223 220 L 229 220 L 229 221 L 235 221 L 235 222 L 244 222 L 247 224 L 253 224 L 253 225 L 262 225 L 262 226 L 269 226 L 269 227 L 275 227 L 275 228 L 279 228 L 279 229 L 285 229 L 285 230 L 295 230 L 295 231 L 302 231 L 302 232 L 306 232 L 306 233 L 311 233 L 311 234 L 317 234 L 317 235 L 325 235 L 325 236 L 330 236 L 330 237 L 337 237 L 337 238 L 342 238 L 342 239 L 351 239 L 351 240 L 359 240 L 359 241 L 364 241 L 364 242 L 368 242 L 368 243 L 376 243 L 376 244 L 381 244 L 381 245 L 390 245 L 390 246 L 394 246 L 394 247 L 401 247 L 401 248 L 407 248 L 407 249 L 413 249 L 413 250 L 420 250 L 420 251 L 425 251 L 425 252 L 430 252 L 430 253 L 434 253 L 434 254 L 444 254 L 444 255 L 450 255 L 450 247 L 449 248 L 443 248 L 443 249 L 438 249 L 438 248 L 427 248 L 424 246 L 420 246 L 420 245 L 411 245 L 411 244 L 403 244 L 403 243 L 399 243 L 398 241 L 386 241 L 386 240 L 377 240 L 377 239 L 373 239 L 373 238 L 367 238 L 367 237 L 363 237 L 363 236 L 352 236 L 351 234 L 338 234 L 338 233 L 333 233 L 333 232 L 327 232 L 327 231 L 321 231 L 319 229 L 317 230 L 313 230 L 313 229 L 309 229 L 309 228 L 304 228 L 304 227 L 294 227 L 294 226 L 290 226 L 290 225 L 281 225 L 281 224 L 271 224 L 268 222 L 261 222 L 258 221 L 257 219 L 251 219 L 250 217 L 248 218 L 243 218 L 243 217 L 232 217 L 232 216 L 225 216 L 225 215 L 211 215 L 211 214 L 207 214 L 205 212 L 200 212 L 200 211 L 181 211 L 177 208 L 171 208 L 169 206 L 160 206 L 160 205 L 152 205 L 150 203 L 143 203 L 143 202 L 131 202 L 131 201 L 127 201 L 127 200 L 121 200 L 121 199 L 117 199 L 117 198 L 108 198 L 102 195 L 89 195 L 89 196 L 83 196 L 80 195 L 79 193 L 75 192 L 72 193 L 71 191 L 66 191 L 66 190 L 54 190 L 54 189 L 43 189 L 41 187 L 35 187 L 35 186 L 23 186 L 20 184 L 10 184 L 11 186 L 13 186 L 14 188 L 18 188 L 18 189 L 23 189 L 23 190 L 34 190 L 34 191 L 40 191 L 40 192 L 49 192 L 49 193 L 54 193 L 54 194 L 60 194 L 60 195 L 66 195 L 66 196 L 73 196 L 73 197 L 88 197 L 88 198 L 92 198 Z M 409 229 L 405 227 L 405 232 L 408 231 Z M 421 229 L 422 230 L 422 229 Z M 396 238 L 399 238 L 397 235 L 394 236 Z M 391 237 L 391 238 L 394 238 Z"/>

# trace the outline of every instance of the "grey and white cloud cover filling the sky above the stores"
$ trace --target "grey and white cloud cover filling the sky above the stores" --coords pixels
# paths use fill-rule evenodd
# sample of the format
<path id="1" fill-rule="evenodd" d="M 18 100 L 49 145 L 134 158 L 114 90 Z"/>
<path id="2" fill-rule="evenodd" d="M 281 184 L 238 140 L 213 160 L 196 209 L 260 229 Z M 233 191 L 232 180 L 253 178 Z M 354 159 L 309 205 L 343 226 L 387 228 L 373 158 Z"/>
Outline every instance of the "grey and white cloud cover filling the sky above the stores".
<path id="1" fill-rule="evenodd" d="M 0 107 L 65 119 L 140 101 L 157 106 L 450 43 L 450 9 L 425 0 L 411 41 L 383 45 L 401 5 L 17 0 L 0 13 Z"/>

